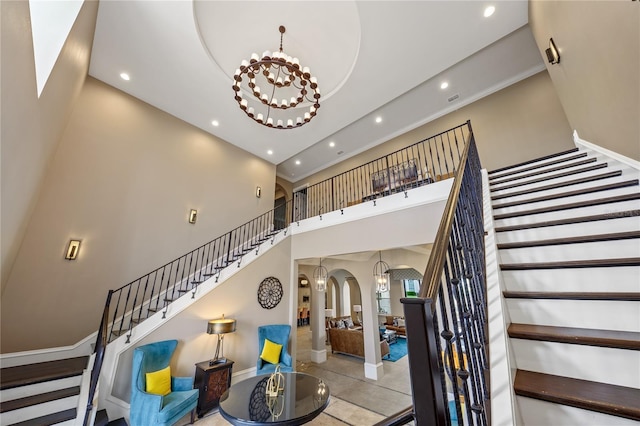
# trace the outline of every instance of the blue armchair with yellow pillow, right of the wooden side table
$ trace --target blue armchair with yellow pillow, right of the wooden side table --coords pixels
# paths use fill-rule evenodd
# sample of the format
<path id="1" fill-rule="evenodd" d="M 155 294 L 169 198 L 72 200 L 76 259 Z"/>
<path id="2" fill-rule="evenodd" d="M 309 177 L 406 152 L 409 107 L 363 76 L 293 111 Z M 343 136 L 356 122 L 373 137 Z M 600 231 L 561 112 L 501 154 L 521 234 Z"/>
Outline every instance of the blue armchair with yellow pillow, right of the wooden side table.
<path id="1" fill-rule="evenodd" d="M 282 372 L 293 371 L 291 355 L 287 348 L 290 333 L 291 326 L 289 324 L 258 327 L 258 353 L 260 356 L 256 363 L 256 374 L 271 373 L 275 371 L 277 365 L 280 365 Z"/>

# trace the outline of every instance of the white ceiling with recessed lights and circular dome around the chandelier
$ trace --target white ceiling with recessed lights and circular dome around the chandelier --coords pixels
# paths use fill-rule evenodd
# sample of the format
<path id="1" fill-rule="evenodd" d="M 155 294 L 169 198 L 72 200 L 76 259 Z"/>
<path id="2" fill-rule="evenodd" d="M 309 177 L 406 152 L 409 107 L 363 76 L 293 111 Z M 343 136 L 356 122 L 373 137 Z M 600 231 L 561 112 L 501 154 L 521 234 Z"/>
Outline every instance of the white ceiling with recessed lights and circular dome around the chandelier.
<path id="1" fill-rule="evenodd" d="M 495 13 L 483 17 L 491 4 Z M 278 165 L 278 175 L 295 182 L 544 69 L 527 7 L 102 0 L 89 74 Z M 318 115 L 290 130 L 249 119 L 231 89 L 242 59 L 277 50 L 280 25 L 284 51 L 311 68 L 323 94 Z"/>

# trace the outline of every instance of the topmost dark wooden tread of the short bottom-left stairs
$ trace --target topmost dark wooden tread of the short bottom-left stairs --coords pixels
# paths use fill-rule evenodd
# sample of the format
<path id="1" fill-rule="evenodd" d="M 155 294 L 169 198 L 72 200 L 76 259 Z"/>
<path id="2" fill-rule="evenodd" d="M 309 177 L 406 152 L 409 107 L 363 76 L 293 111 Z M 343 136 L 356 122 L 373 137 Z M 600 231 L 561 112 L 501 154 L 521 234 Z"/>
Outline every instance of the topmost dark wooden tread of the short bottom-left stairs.
<path id="1" fill-rule="evenodd" d="M 88 360 L 89 357 L 81 356 L 5 367 L 0 369 L 0 389 L 11 389 L 18 386 L 78 376 L 87 368 Z"/>

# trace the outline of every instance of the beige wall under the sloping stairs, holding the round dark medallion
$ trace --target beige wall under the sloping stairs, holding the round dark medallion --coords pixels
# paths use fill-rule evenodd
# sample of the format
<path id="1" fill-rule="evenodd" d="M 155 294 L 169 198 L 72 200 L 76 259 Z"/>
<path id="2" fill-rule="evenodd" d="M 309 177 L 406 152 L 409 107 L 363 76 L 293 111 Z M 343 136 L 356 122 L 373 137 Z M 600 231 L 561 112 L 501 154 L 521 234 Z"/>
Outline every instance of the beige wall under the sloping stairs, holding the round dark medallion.
<path id="1" fill-rule="evenodd" d="M 236 320 L 235 333 L 224 338 L 224 355 L 232 359 L 235 373 L 256 366 L 258 360 L 258 326 L 289 324 L 295 317 L 297 283 L 291 283 L 291 240 L 285 239 L 247 265 L 221 286 L 193 304 L 189 309 L 167 321 L 163 326 L 138 342 L 136 346 L 161 340 L 177 339 L 178 348 L 171 360 L 172 373 L 177 376 L 195 374 L 195 364 L 213 357 L 216 337 L 206 333 L 207 321 L 220 318 Z M 258 286 L 267 277 L 276 277 L 282 283 L 284 295 L 273 309 L 264 309 L 258 303 Z M 242 294 L 243 297 L 238 297 Z M 295 321 L 292 333 L 295 333 Z M 289 353 L 294 355 L 295 340 Z M 131 360 L 133 347 L 125 351 L 118 361 L 112 394 L 129 401 L 131 392 Z"/>

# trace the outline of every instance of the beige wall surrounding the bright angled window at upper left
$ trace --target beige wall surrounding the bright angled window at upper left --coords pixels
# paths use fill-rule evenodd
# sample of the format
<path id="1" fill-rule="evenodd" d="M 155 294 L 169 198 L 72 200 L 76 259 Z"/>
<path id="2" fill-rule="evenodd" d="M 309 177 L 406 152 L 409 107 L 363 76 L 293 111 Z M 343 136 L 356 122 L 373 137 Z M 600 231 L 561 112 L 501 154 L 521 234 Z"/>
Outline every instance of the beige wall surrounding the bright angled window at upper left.
<path id="1" fill-rule="evenodd" d="M 47 167 L 89 67 L 98 2 L 87 1 L 42 96 L 28 1 L 2 1 L 2 296 Z"/>

